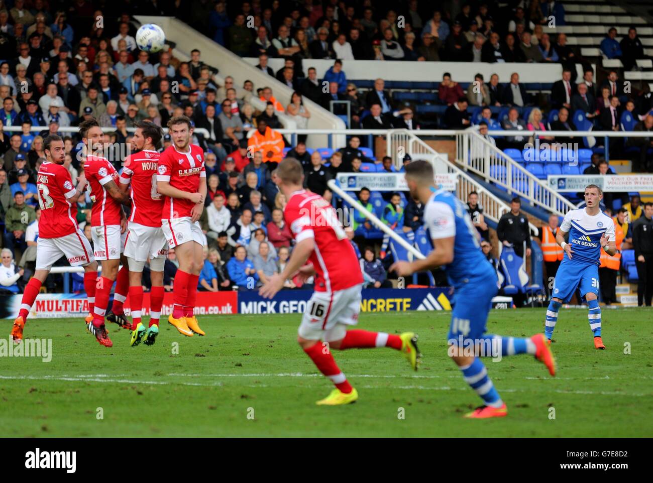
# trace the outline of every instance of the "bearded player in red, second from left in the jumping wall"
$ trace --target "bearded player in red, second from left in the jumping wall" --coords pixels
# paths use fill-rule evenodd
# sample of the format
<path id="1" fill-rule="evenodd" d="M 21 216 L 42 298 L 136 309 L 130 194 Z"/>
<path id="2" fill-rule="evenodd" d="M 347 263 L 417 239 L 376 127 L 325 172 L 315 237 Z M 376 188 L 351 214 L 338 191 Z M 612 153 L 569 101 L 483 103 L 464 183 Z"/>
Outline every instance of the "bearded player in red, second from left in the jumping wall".
<path id="1" fill-rule="evenodd" d="M 119 189 L 118 172 L 109 161 L 93 154 L 94 149 L 101 148 L 103 132 L 95 119 L 88 119 L 80 124 L 80 136 L 84 142 L 84 174 L 91 187 L 91 237 L 95 249 L 95 259 L 101 260 L 102 276 L 97 281 L 95 290 L 95 307 L 93 319 L 88 322 L 88 330 L 95 335 L 99 343 L 112 347 L 113 343 L 106 334 L 104 316 L 109 303 L 111 287 L 114 285 L 120 254 L 125 246 L 125 230 L 127 220 L 121 204 L 129 203 L 129 195 Z M 126 265 L 126 264 L 125 264 Z M 124 276 L 116 286 L 118 296 L 114 296 L 114 305 L 122 305 L 129 290 L 129 274 L 127 266 L 123 266 Z M 120 314 L 121 309 L 114 307 L 114 313 Z M 88 319 L 87 319 L 88 321 Z M 131 326 L 124 317 L 114 319 L 120 326 Z"/>

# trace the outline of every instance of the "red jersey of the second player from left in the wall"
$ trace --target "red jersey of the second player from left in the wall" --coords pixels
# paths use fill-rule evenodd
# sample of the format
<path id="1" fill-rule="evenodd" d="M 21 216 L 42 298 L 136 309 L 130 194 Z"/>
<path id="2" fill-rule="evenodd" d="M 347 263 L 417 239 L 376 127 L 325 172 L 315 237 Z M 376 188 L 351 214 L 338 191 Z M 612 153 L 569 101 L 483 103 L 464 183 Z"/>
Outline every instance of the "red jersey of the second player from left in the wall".
<path id="1" fill-rule="evenodd" d="M 89 155 L 84 163 L 84 175 L 91 187 L 91 226 L 120 225 L 120 204 L 104 188 L 111 180 L 118 183 L 116 168 L 106 158 Z"/>

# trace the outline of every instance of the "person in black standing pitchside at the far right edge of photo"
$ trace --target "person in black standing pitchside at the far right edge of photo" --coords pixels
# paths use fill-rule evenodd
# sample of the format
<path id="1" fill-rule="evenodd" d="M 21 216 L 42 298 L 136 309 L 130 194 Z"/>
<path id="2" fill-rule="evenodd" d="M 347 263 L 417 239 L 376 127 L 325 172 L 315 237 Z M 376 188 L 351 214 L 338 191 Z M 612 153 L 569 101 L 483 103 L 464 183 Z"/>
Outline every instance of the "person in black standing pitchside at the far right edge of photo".
<path id="1" fill-rule="evenodd" d="M 637 266 L 637 305 L 650 307 L 653 297 L 653 203 L 645 203 L 644 213 L 633 223 L 633 248 Z"/>

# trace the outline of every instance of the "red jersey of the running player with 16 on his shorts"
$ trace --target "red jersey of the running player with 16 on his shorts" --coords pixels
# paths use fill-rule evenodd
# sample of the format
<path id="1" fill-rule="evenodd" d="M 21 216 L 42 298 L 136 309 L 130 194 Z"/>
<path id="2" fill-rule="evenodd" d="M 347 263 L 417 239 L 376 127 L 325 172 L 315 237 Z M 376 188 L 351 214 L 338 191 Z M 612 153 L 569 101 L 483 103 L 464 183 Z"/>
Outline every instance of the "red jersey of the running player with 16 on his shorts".
<path id="1" fill-rule="evenodd" d="M 315 268 L 315 290 L 333 292 L 363 283 L 360 263 L 331 204 L 305 190 L 291 195 L 283 210 L 296 242 L 315 239 L 309 258 Z"/>

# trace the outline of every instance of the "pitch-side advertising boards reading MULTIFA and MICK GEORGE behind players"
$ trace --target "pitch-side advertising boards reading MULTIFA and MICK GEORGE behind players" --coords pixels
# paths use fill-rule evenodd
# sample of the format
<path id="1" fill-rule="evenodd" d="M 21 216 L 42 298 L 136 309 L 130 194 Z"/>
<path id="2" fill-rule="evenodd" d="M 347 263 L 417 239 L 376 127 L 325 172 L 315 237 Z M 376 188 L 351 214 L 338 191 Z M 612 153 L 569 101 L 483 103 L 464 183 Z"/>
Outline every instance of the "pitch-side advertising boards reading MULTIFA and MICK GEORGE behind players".
<path id="1" fill-rule="evenodd" d="M 199 292 L 197 315 L 303 313 L 312 290 L 282 290 L 273 300 L 252 292 Z M 451 310 L 451 288 L 378 288 L 362 290 L 362 312 L 403 312 L 407 310 Z M 13 319 L 20 310 L 22 295 L 0 297 L 0 319 Z M 496 297 L 494 308 L 507 309 L 511 298 Z M 129 313 L 129 297 L 125 302 Z M 163 298 L 162 315 L 172 312 L 172 292 Z M 84 294 L 39 294 L 29 317 L 52 319 L 85 317 L 88 303 Z M 143 296 L 143 315 L 150 315 L 150 294 Z"/>

